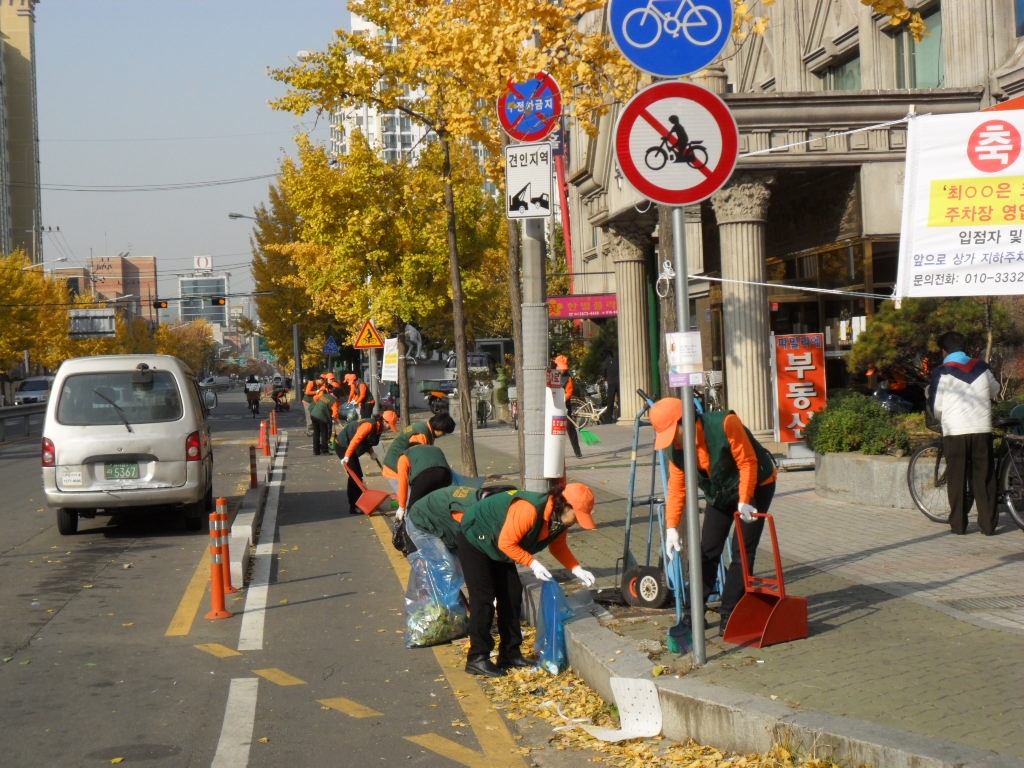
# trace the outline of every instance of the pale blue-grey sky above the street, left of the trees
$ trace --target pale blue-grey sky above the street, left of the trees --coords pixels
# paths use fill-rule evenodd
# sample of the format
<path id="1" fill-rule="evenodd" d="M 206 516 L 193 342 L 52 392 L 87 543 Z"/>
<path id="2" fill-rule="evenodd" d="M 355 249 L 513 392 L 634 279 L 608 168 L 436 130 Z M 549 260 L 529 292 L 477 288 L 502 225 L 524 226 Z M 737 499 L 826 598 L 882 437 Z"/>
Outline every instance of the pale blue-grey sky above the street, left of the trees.
<path id="1" fill-rule="evenodd" d="M 161 293 L 195 256 L 252 290 L 251 214 L 272 179 L 166 186 L 273 174 L 293 136 L 327 126 L 266 102 L 283 88 L 266 68 L 322 50 L 348 26 L 343 0 L 42 0 L 37 86 L 47 264 L 90 256 L 158 257 Z M 71 187 L 57 189 L 54 187 Z"/>

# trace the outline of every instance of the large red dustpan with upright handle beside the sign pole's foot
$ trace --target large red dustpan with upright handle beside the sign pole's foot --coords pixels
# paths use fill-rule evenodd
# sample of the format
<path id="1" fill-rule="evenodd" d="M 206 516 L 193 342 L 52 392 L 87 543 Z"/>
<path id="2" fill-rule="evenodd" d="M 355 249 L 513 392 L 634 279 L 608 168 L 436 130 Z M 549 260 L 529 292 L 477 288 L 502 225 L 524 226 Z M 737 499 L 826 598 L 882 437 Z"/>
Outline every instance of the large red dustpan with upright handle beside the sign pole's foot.
<path id="1" fill-rule="evenodd" d="M 736 517 L 736 532 L 739 536 L 739 513 Z M 782 581 L 782 562 L 778 556 L 778 539 L 775 537 L 775 519 L 769 514 L 759 514 L 768 520 L 771 532 L 772 555 L 775 558 L 775 578 L 755 577 L 746 561 L 746 550 L 739 547 L 739 558 L 743 563 L 743 583 L 746 592 L 729 616 L 722 639 L 737 645 L 765 645 L 803 640 L 807 637 L 807 598 L 785 594 Z"/>

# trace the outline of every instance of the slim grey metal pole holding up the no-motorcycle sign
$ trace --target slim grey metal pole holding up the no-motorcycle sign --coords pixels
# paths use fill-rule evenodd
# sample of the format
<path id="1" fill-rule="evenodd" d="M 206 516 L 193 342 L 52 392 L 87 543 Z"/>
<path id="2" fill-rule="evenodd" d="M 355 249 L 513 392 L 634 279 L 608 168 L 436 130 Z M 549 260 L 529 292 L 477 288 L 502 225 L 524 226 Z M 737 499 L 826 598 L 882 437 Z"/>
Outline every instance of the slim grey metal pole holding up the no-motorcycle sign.
<path id="1" fill-rule="evenodd" d="M 672 257 L 676 270 L 676 315 L 679 332 L 690 330 L 689 280 L 686 276 L 686 228 L 681 206 L 672 208 Z M 703 571 L 700 567 L 700 519 L 697 507 L 696 419 L 693 412 L 693 387 L 687 378 L 679 388 L 683 401 L 683 471 L 686 473 L 686 556 L 690 572 L 690 626 L 693 628 L 693 664 L 707 662 L 703 631 Z M 678 555 L 677 555 L 678 557 Z"/>

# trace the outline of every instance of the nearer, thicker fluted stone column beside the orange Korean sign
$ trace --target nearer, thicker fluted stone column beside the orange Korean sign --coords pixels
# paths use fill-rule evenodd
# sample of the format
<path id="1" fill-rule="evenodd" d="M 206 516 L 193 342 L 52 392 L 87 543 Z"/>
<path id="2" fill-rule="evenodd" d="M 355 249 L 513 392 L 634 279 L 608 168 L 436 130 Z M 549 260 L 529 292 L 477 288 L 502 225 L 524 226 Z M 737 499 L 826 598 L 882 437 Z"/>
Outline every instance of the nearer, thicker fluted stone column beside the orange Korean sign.
<path id="1" fill-rule="evenodd" d="M 736 173 L 712 197 L 722 248 L 722 314 L 728 407 L 759 440 L 771 440 L 768 289 L 764 225 L 772 176 Z M 735 281 L 735 282 L 730 282 Z"/>

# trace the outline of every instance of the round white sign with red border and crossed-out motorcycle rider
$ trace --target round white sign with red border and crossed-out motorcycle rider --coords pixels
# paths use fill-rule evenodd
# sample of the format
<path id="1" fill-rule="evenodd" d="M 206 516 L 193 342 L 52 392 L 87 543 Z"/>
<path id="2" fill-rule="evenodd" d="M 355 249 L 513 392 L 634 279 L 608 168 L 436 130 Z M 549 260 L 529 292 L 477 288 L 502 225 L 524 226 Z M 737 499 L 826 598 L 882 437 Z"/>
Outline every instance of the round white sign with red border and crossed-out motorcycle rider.
<path id="1" fill-rule="evenodd" d="M 687 144 L 678 151 L 680 137 Z M 671 81 L 631 98 L 615 123 L 615 158 L 627 180 L 655 203 L 710 198 L 736 167 L 739 132 L 729 108 L 707 88 Z"/>

